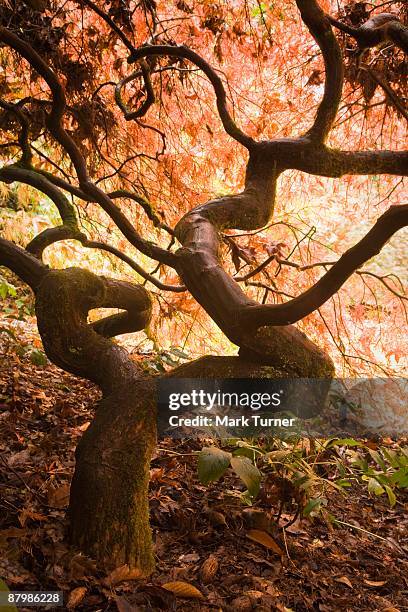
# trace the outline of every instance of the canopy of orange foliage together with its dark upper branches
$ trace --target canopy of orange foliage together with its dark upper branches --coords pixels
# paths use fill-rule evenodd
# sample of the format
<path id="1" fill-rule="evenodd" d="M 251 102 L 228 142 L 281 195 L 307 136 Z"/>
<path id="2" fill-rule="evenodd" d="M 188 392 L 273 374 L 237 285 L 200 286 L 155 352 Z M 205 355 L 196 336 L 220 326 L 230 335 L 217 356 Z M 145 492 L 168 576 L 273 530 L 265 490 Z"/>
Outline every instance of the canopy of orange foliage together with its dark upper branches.
<path id="1" fill-rule="evenodd" d="M 340 13 L 328 2 L 3 3 L 5 199 L 27 202 L 32 189 L 16 184 L 29 185 L 62 220 L 29 244 L 6 220 L 5 236 L 59 267 L 60 240 L 110 254 L 109 267 L 153 289 L 151 331 L 164 345 L 172 330 L 176 344 L 194 338 L 198 353 L 219 348 L 211 319 L 241 344 L 227 320 L 248 303 L 238 326 L 302 321 L 348 371 L 397 372 L 404 273 L 394 269 L 395 249 L 365 265 L 406 225 L 404 207 L 381 213 L 403 194 L 401 178 L 389 175 L 407 172 L 407 154 L 391 152 L 407 119 L 407 9 L 382 10 L 362 2 Z M 364 26 L 378 14 L 384 24 Z M 376 39 L 359 38 L 371 30 Z M 258 210 L 247 211 L 254 194 Z M 204 239 L 201 262 L 219 268 L 221 249 L 226 273 L 219 268 L 214 283 L 235 302 L 221 314 L 212 281 L 208 296 L 194 290 L 205 272 L 193 273 L 187 251 L 177 252 L 177 241 L 197 247 L 196 222 L 222 232 Z M 68 244 L 65 263 L 79 262 L 84 251 Z"/>

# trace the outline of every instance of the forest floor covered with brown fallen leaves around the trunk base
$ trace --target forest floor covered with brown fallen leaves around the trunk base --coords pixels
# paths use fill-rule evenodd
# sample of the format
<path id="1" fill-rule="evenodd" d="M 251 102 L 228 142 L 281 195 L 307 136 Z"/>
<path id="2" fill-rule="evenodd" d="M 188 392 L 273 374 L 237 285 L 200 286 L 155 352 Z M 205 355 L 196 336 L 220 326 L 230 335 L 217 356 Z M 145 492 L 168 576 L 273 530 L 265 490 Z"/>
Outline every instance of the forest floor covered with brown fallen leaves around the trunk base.
<path id="1" fill-rule="evenodd" d="M 160 441 L 152 460 L 155 573 L 120 582 L 120 570 L 101 572 L 65 540 L 74 450 L 98 391 L 39 363 L 33 320 L 6 329 L 7 317 L 0 319 L 0 576 L 10 589 L 62 590 L 66 608 L 76 610 L 408 610 L 407 493 L 391 508 L 366 486 L 333 489 L 328 509 L 343 523 L 298 519 L 260 543 L 248 537 L 245 517 L 272 509 L 262 501 L 245 507 L 231 494 L 243 489 L 232 473 L 200 484 L 198 441 Z M 175 581 L 196 598 L 162 586 Z"/>

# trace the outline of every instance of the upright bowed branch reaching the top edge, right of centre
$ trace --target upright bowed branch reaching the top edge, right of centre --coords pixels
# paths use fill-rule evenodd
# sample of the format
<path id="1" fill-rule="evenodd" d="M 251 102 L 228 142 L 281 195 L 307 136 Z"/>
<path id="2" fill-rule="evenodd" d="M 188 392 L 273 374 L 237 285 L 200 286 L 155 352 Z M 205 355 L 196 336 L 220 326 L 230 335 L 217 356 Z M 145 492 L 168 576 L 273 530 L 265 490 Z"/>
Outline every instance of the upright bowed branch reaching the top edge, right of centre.
<path id="1" fill-rule="evenodd" d="M 296 0 L 303 22 L 323 54 L 325 86 L 313 126 L 306 136 L 324 142 L 330 132 L 339 109 L 343 88 L 344 67 L 340 47 L 328 20 L 315 0 Z"/>

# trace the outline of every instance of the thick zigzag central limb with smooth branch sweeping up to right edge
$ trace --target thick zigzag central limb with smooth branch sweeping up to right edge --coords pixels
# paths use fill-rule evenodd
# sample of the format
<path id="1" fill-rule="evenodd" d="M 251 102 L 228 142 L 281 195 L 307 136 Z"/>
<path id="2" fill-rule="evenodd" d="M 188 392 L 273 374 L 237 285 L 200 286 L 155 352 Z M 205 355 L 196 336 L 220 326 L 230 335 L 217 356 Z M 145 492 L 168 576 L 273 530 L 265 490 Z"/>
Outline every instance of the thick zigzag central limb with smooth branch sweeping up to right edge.
<path id="1" fill-rule="evenodd" d="M 293 145 L 293 142 L 291 144 Z M 301 143 L 298 145 L 301 146 Z M 267 169 L 269 192 L 265 184 Z M 267 155 L 262 155 L 261 152 L 257 152 L 257 155 L 253 153 L 242 194 L 198 206 L 179 222 L 175 230 L 183 245 L 177 252 L 177 269 L 189 291 L 230 340 L 241 347 L 252 346 L 253 351 L 257 350 L 261 354 L 264 352 L 265 343 L 261 335 L 254 335 L 254 330 L 266 325 L 285 326 L 286 330 L 287 325 L 299 321 L 319 308 L 356 269 L 376 255 L 398 229 L 408 225 L 408 205 L 392 207 L 377 221 L 365 238 L 347 251 L 331 270 L 304 294 L 285 304 L 259 305 L 249 299 L 222 268 L 219 259 L 219 231 L 225 228 L 255 229 L 264 225 L 273 209 L 278 175 L 279 169 L 275 169 L 275 174 L 271 175 Z M 283 336 L 287 333 L 293 332 L 285 331 Z M 254 349 L 255 339 L 257 349 Z"/>

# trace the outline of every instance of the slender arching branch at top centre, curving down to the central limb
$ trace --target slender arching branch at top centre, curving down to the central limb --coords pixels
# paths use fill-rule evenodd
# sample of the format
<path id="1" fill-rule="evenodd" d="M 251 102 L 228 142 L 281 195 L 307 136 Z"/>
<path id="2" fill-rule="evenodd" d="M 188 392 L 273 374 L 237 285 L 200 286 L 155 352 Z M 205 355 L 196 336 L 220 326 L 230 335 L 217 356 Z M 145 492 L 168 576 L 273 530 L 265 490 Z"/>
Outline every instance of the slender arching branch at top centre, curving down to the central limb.
<path id="1" fill-rule="evenodd" d="M 225 92 L 224 85 L 210 64 L 201 55 L 185 47 L 184 45 L 172 46 L 172 45 L 150 45 L 145 47 L 139 47 L 136 49 L 128 58 L 128 63 L 133 64 L 134 62 L 141 60 L 146 57 L 157 57 L 158 55 L 166 55 L 170 57 L 179 57 L 182 59 L 189 60 L 196 66 L 198 66 L 211 82 L 215 97 L 217 101 L 218 114 L 220 116 L 222 125 L 225 131 L 234 140 L 241 143 L 247 149 L 251 149 L 255 144 L 253 138 L 245 134 L 235 123 L 231 117 L 227 108 L 227 95 Z"/>

